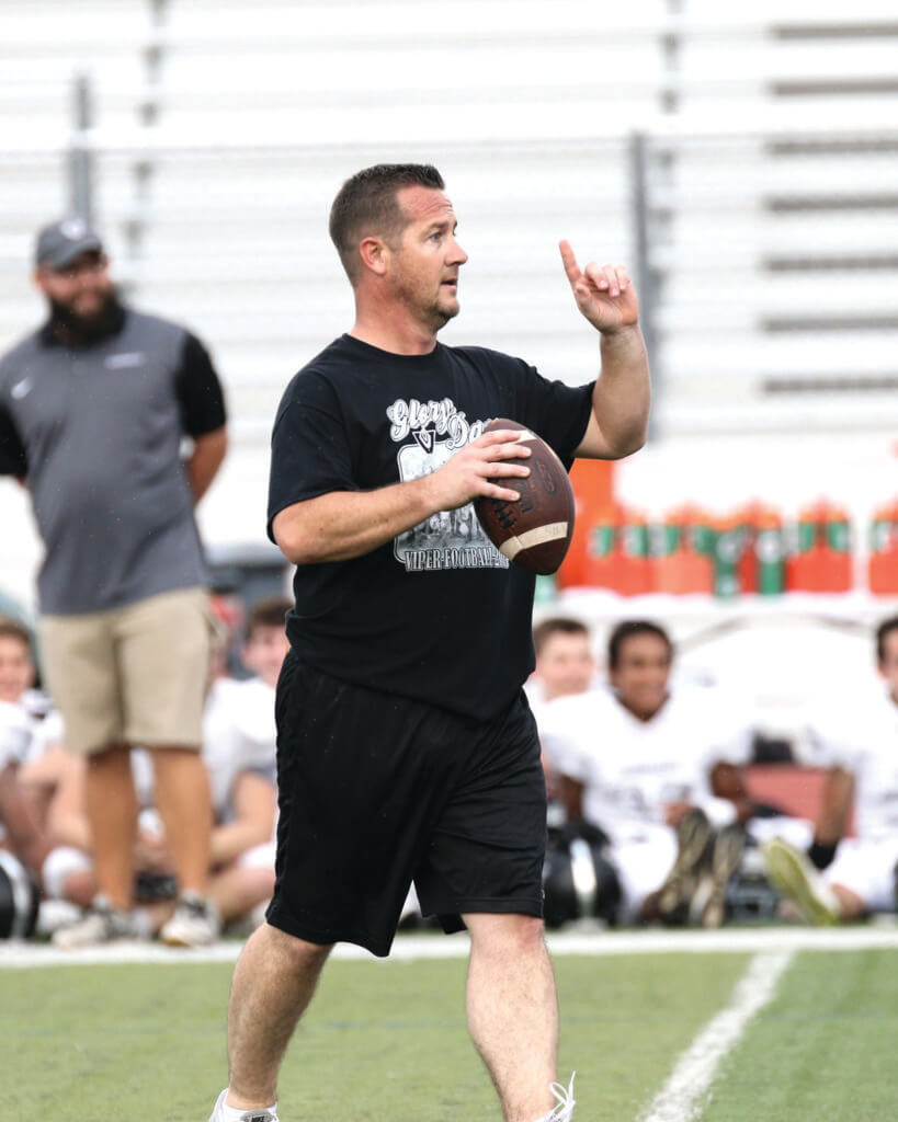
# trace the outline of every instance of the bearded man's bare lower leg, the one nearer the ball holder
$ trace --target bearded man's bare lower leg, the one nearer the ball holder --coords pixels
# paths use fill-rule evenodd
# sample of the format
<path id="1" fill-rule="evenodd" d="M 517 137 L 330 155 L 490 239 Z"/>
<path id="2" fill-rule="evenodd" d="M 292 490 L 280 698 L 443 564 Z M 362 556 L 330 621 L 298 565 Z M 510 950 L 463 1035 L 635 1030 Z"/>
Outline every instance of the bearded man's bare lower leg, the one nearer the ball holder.
<path id="1" fill-rule="evenodd" d="M 212 802 L 209 772 L 199 752 L 153 748 L 156 808 L 182 892 L 205 894 Z"/>

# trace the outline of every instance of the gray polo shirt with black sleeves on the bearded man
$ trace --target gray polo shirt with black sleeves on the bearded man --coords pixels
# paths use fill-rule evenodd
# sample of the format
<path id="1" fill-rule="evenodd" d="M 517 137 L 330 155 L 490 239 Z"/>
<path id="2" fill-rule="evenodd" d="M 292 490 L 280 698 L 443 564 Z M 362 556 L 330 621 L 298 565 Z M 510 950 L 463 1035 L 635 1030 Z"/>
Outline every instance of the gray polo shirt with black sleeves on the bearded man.
<path id="1" fill-rule="evenodd" d="M 0 473 L 27 478 L 45 615 L 205 583 L 180 448 L 222 424 L 199 340 L 131 310 L 89 346 L 63 346 L 47 327 L 0 359 Z"/>

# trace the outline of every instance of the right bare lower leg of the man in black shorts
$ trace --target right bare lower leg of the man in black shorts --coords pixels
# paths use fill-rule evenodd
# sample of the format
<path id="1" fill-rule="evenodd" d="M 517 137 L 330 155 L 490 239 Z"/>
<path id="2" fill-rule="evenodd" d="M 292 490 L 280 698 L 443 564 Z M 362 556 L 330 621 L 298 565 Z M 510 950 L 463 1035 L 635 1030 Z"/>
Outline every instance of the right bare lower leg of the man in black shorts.
<path id="1" fill-rule="evenodd" d="M 468 1029 L 505 1122 L 534 1122 L 553 1105 L 558 999 L 542 921 L 465 916 L 470 931 Z"/>

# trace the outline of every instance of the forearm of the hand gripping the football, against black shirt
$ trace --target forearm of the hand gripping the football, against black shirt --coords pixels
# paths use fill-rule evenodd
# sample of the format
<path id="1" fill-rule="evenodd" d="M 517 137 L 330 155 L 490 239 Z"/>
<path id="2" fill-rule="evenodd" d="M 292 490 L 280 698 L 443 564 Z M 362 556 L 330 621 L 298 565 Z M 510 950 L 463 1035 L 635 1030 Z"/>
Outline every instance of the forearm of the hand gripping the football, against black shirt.
<path id="1" fill-rule="evenodd" d="M 293 564 L 346 561 L 370 553 L 437 512 L 428 480 L 373 491 L 331 491 L 282 511 L 274 536 Z"/>

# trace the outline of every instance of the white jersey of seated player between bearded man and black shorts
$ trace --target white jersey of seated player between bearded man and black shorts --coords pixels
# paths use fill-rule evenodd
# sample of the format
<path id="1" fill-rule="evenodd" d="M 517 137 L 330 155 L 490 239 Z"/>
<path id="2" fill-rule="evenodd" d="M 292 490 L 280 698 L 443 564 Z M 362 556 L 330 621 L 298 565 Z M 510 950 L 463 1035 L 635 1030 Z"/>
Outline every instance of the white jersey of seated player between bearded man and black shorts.
<path id="1" fill-rule="evenodd" d="M 203 758 L 219 821 L 231 815 L 230 794 L 244 771 L 274 778 L 277 729 L 274 687 L 260 678 L 218 679 L 209 692 L 203 720 Z"/>

